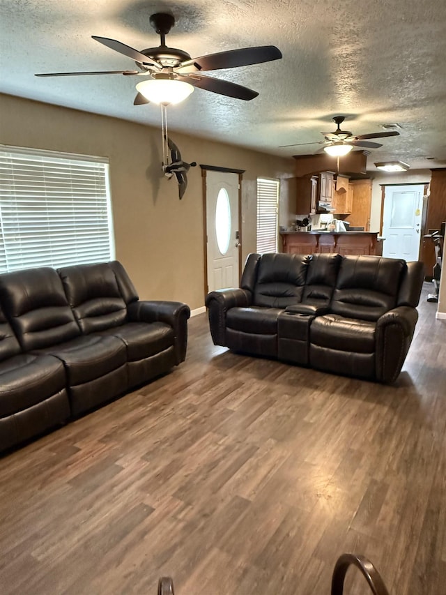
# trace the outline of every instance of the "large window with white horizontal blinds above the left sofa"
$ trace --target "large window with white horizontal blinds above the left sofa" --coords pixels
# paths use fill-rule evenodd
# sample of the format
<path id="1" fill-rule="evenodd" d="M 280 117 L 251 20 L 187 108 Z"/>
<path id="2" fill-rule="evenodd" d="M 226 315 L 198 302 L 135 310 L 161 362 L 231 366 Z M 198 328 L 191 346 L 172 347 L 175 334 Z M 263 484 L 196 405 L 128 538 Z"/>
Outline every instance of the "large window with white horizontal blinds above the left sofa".
<path id="1" fill-rule="evenodd" d="M 107 160 L 0 145 L 0 273 L 114 258 Z"/>

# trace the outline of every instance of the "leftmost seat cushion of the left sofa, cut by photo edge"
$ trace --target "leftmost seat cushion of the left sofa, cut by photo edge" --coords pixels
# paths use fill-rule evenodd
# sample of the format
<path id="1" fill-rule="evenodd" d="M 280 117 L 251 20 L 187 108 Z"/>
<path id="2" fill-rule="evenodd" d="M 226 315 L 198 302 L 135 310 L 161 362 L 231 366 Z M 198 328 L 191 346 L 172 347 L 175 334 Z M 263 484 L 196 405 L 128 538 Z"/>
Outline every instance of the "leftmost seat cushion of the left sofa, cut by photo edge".
<path id="1" fill-rule="evenodd" d="M 55 357 L 20 354 L 0 362 L 0 417 L 33 407 L 65 384 L 63 363 Z"/>

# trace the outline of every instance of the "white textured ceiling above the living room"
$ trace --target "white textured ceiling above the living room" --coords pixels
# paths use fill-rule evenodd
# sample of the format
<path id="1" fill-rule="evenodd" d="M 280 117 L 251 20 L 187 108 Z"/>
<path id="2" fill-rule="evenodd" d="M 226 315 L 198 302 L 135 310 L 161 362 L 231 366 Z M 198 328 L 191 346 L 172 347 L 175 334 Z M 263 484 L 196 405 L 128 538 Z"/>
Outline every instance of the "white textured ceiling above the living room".
<path id="1" fill-rule="evenodd" d="M 132 70 L 131 59 L 91 35 L 156 46 L 149 17 L 163 11 L 176 17 L 167 45 L 192 57 L 254 45 L 283 54 L 207 73 L 260 95 L 245 102 L 196 89 L 169 107 L 171 130 L 292 156 L 320 146 L 278 147 L 322 140 L 342 114 L 341 128 L 355 135 L 401 126 L 371 149 L 369 170 L 389 159 L 446 167 L 445 0 L 1 0 L 0 91 L 158 126 L 159 107 L 132 105 L 141 77 L 33 74 Z"/>

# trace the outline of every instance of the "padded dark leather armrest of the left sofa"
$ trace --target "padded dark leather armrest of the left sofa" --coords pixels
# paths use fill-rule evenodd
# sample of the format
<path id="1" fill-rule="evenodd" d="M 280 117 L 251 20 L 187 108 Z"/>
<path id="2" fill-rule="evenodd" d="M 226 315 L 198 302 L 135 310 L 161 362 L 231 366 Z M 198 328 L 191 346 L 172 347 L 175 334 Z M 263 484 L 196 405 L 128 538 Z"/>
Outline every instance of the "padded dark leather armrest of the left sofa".
<path id="1" fill-rule="evenodd" d="M 185 360 L 187 349 L 187 319 L 190 308 L 180 301 L 134 301 L 127 307 L 130 322 L 164 322 L 175 333 L 176 363 Z"/>

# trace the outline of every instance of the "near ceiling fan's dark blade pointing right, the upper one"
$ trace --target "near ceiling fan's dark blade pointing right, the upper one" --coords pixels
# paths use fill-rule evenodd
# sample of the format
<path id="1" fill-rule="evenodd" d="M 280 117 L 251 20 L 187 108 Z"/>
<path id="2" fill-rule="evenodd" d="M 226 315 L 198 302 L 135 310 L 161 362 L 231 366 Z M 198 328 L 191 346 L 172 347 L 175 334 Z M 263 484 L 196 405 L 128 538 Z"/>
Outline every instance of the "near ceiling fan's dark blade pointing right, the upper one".
<path id="1" fill-rule="evenodd" d="M 183 68 L 194 66 L 197 70 L 221 70 L 222 68 L 236 68 L 249 66 L 282 58 L 282 52 L 275 45 L 261 45 L 259 47 L 245 47 L 240 50 L 228 50 L 217 54 L 208 54 L 199 58 L 186 60 L 176 68 L 181 73 Z"/>

